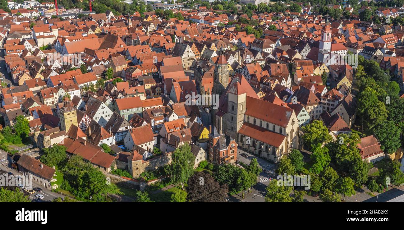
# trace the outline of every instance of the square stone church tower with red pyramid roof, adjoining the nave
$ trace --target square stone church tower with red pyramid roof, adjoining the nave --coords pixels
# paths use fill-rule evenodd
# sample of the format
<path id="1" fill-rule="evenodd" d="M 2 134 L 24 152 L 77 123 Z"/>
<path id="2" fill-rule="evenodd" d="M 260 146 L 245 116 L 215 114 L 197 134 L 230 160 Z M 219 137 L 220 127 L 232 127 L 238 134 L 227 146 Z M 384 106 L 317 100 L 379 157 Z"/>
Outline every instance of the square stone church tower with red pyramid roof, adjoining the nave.
<path id="1" fill-rule="evenodd" d="M 241 74 L 236 74 L 228 90 L 226 133 L 233 139 L 237 138 L 237 133 L 243 125 L 246 112 L 247 93 L 240 84 L 241 79 L 240 82 L 237 80 L 237 78 L 241 77 Z"/>

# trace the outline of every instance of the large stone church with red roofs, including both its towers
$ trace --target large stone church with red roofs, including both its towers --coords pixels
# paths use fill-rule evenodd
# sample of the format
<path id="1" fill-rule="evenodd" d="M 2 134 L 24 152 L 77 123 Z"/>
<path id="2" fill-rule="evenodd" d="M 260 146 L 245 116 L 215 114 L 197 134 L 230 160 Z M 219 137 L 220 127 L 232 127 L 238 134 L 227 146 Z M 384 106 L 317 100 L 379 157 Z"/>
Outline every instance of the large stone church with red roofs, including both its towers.
<path id="1" fill-rule="evenodd" d="M 242 74 L 229 80 L 223 53 L 214 66 L 212 94 L 219 95 L 219 105 L 212 120 L 219 135 L 228 135 L 242 149 L 273 162 L 299 148 L 294 110 L 259 99 Z"/>

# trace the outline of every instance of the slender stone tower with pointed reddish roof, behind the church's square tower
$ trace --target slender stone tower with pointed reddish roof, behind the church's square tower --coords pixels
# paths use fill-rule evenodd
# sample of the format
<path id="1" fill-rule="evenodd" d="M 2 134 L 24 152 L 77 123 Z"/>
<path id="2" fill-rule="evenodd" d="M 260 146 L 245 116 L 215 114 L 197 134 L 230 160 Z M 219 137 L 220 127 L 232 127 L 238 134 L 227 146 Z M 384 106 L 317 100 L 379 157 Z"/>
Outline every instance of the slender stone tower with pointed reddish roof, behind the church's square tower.
<path id="1" fill-rule="evenodd" d="M 223 49 L 221 49 L 214 66 L 212 96 L 219 95 L 220 97 L 225 91 L 227 84 L 229 84 L 229 70 L 227 69 L 227 60 L 223 54 Z"/>

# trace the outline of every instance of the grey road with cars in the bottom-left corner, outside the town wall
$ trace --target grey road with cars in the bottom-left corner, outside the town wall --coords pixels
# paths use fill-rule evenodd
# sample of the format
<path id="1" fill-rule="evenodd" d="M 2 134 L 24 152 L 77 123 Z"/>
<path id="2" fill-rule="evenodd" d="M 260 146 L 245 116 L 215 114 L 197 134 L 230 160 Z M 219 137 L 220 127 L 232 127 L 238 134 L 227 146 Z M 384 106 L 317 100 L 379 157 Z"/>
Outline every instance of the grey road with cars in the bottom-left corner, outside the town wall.
<path id="1" fill-rule="evenodd" d="M 0 169 L 4 170 L 6 172 L 12 172 L 15 176 L 22 175 L 17 170 L 7 167 L 6 164 L 8 164 L 7 154 L 3 150 L 1 150 L 1 153 L 0 153 Z M 42 194 L 45 198 L 42 199 L 42 200 L 39 200 L 38 198 L 35 197 L 35 195 L 38 194 L 38 192 L 35 192 L 34 194 L 29 195 L 29 199 L 34 201 L 34 202 L 52 201 L 53 199 L 55 199 L 57 197 L 65 198 L 65 196 L 63 196 L 61 194 L 58 194 L 56 192 L 51 192 L 50 190 L 48 190 L 48 189 L 44 188 L 43 186 L 41 186 L 41 184 L 39 184 L 36 181 L 32 180 L 32 188 L 36 188 L 36 187 L 42 188 L 43 191 L 40 192 L 40 194 Z"/>

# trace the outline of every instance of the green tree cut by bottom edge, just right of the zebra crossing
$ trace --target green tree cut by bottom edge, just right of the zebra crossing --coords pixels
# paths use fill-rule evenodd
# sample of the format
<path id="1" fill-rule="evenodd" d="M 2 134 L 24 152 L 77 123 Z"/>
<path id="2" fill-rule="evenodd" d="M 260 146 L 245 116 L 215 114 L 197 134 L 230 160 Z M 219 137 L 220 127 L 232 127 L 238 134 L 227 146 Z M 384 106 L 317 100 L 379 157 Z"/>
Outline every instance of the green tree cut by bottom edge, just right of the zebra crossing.
<path id="1" fill-rule="evenodd" d="M 292 186 L 286 186 L 282 180 L 279 180 L 279 182 L 278 180 L 271 180 L 266 188 L 265 202 L 292 202 L 292 197 L 290 196 L 292 189 Z"/>

